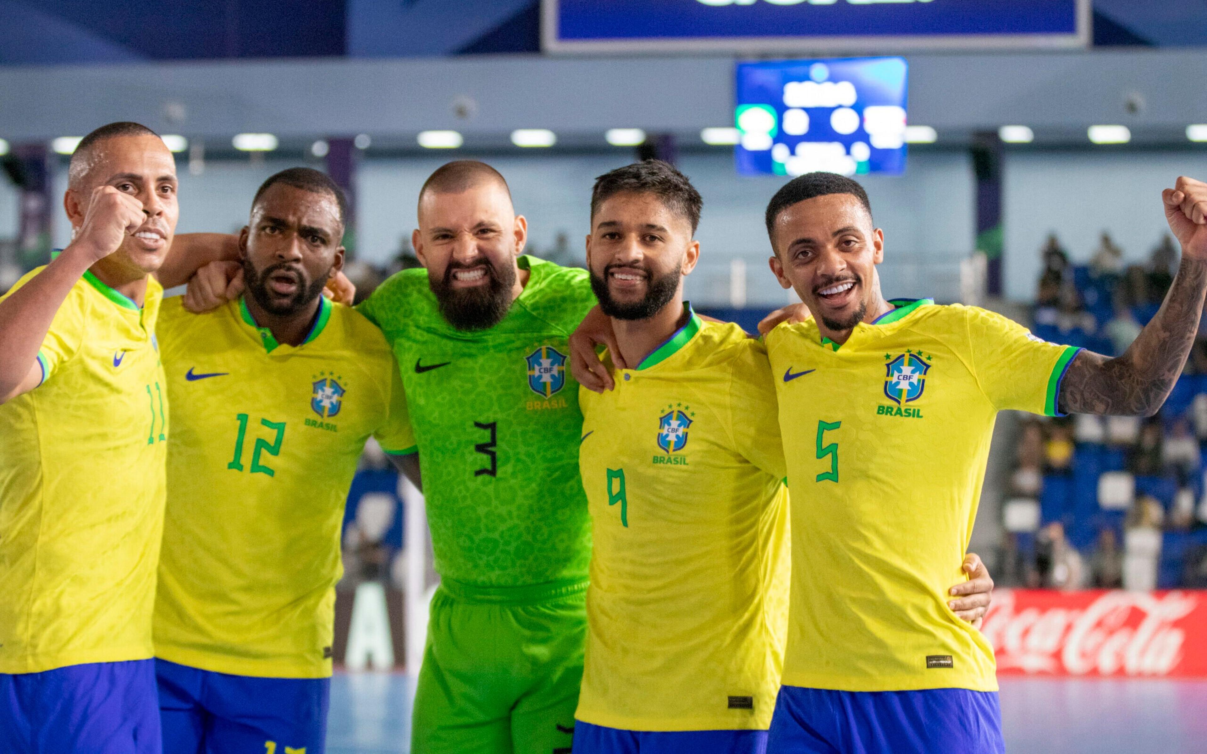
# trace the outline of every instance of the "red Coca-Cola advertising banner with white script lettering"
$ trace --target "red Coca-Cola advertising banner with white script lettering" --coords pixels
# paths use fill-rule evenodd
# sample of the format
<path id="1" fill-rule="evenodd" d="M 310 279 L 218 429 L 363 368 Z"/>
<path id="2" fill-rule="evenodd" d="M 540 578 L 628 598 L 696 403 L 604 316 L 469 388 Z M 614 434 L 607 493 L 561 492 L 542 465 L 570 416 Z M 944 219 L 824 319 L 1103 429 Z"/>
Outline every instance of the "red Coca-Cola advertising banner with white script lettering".
<path id="1" fill-rule="evenodd" d="M 1207 678 L 1207 591 L 997 590 L 1001 676 Z"/>

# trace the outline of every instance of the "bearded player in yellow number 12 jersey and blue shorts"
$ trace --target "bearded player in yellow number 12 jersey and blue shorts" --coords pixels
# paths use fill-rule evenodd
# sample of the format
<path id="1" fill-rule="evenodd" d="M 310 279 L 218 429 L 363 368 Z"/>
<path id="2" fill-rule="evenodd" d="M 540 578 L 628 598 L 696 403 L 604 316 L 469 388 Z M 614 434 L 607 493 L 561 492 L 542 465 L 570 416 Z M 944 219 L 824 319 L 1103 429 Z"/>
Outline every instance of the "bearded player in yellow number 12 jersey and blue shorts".
<path id="1" fill-rule="evenodd" d="M 322 288 L 345 205 L 269 177 L 240 235 L 245 294 L 159 321 L 174 401 L 154 644 L 167 752 L 321 754 L 344 502 L 366 440 L 413 451 L 385 338 Z"/>

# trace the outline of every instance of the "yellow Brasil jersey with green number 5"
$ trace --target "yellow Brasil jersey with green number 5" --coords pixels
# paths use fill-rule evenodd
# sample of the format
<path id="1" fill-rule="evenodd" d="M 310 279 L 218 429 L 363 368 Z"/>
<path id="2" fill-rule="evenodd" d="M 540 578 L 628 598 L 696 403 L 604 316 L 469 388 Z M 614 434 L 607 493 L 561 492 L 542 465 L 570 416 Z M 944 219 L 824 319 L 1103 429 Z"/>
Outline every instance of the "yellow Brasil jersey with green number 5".
<path id="1" fill-rule="evenodd" d="M 785 685 L 997 689 L 993 649 L 947 607 L 997 413 L 1056 413 L 1077 349 L 928 299 L 839 346 L 812 320 L 766 338 L 792 507 Z"/>

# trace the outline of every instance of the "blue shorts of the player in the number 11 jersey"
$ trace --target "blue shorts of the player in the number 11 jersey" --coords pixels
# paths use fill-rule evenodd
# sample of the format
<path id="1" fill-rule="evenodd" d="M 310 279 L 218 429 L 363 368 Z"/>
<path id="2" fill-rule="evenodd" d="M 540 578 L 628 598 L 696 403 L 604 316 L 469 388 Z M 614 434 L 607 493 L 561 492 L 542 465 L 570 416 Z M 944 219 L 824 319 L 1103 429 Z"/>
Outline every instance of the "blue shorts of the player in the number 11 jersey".
<path id="1" fill-rule="evenodd" d="M 161 754 L 151 660 L 0 674 L 5 754 Z"/>

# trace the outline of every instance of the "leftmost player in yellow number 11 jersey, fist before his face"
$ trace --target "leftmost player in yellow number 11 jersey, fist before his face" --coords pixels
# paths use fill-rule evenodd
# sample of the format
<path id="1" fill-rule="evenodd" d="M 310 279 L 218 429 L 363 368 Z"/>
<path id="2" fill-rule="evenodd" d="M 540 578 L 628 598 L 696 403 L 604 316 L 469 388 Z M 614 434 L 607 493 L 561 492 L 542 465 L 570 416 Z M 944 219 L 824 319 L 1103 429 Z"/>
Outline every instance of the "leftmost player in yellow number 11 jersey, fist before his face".
<path id="1" fill-rule="evenodd" d="M 150 275 L 176 226 L 171 153 L 101 127 L 64 205 L 72 242 L 0 299 L 0 749 L 153 753 L 170 422 Z"/>

